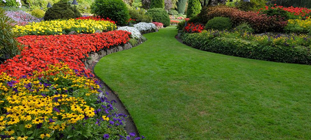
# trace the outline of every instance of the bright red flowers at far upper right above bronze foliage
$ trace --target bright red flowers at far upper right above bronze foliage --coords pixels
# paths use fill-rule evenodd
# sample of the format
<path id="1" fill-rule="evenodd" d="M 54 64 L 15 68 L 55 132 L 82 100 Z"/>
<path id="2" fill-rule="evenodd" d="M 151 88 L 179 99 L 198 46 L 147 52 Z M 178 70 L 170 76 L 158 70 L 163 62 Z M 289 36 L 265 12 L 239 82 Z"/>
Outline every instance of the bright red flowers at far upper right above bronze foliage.
<path id="1" fill-rule="evenodd" d="M 308 8 L 304 8 L 304 7 L 283 7 L 283 6 L 277 6 L 276 4 L 274 4 L 274 7 L 268 7 L 268 6 L 265 6 L 265 8 L 261 8 L 259 9 L 259 11 L 262 11 L 262 10 L 269 10 L 269 9 L 283 9 L 287 12 L 290 12 L 292 13 L 293 15 L 295 16 L 301 16 L 301 17 L 304 17 L 304 18 L 308 18 L 308 16 L 311 15 L 311 10 L 308 9 Z"/>

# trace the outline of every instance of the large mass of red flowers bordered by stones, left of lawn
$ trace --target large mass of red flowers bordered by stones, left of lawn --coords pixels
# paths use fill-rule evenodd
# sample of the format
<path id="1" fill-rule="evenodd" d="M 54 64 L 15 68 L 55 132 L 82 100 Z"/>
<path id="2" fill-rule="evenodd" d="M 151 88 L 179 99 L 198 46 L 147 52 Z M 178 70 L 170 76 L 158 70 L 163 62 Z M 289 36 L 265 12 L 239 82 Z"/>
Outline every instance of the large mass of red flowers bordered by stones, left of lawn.
<path id="1" fill-rule="evenodd" d="M 104 33 L 81 35 L 26 35 L 17 38 L 24 45 L 21 55 L 8 59 L 0 65 L 0 73 L 21 77 L 33 71 L 43 71 L 47 65 L 63 62 L 69 68 L 86 70 L 83 58 L 88 53 L 125 44 L 131 33 L 115 30 Z M 91 73 L 87 71 L 86 73 Z"/>

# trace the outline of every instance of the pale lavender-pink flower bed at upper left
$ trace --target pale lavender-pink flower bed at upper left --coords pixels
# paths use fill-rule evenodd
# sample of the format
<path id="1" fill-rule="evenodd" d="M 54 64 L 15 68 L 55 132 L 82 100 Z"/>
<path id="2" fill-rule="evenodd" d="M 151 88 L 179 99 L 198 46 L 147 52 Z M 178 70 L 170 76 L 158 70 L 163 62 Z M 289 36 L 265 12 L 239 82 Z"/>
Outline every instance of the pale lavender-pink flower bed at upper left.
<path id="1" fill-rule="evenodd" d="M 36 18 L 35 16 L 26 13 L 25 11 L 6 11 L 5 12 L 8 17 L 10 17 L 13 21 L 15 21 L 15 25 L 24 26 L 29 22 L 40 22 L 41 20 Z"/>

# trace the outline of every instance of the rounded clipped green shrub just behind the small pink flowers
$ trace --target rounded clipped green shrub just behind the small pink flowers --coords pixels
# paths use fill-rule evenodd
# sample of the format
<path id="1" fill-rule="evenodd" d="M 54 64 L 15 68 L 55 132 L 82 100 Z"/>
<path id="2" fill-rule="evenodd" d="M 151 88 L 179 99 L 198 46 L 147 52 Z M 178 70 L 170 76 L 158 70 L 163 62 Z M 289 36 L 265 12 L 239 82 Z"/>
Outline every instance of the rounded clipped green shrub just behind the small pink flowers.
<path id="1" fill-rule="evenodd" d="M 149 9 L 146 15 L 151 16 L 153 22 L 163 23 L 164 27 L 170 24 L 169 14 L 162 8 Z"/>

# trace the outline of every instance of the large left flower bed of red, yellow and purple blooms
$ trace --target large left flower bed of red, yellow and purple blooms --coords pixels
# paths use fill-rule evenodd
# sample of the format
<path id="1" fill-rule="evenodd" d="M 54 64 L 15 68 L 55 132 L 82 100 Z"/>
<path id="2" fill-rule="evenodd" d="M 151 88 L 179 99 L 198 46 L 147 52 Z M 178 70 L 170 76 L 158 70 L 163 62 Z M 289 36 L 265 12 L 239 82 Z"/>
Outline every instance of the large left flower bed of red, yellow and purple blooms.
<path id="1" fill-rule="evenodd" d="M 25 47 L 0 65 L 2 139 L 131 139 L 124 114 L 81 59 L 128 42 L 127 31 L 83 35 L 23 36 Z M 108 93 L 107 93 L 108 94 Z M 143 139 L 137 137 L 135 139 Z"/>

